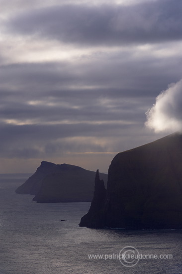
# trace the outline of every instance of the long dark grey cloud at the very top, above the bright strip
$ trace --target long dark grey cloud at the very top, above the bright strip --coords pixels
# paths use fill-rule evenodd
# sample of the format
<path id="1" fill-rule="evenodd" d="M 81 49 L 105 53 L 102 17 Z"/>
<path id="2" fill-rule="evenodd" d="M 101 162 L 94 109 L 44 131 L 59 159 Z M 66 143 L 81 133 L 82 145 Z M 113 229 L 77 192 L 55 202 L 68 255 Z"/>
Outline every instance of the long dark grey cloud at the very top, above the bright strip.
<path id="1" fill-rule="evenodd" d="M 9 30 L 79 46 L 157 43 L 182 39 L 182 1 L 135 5 L 63 5 L 16 14 Z"/>

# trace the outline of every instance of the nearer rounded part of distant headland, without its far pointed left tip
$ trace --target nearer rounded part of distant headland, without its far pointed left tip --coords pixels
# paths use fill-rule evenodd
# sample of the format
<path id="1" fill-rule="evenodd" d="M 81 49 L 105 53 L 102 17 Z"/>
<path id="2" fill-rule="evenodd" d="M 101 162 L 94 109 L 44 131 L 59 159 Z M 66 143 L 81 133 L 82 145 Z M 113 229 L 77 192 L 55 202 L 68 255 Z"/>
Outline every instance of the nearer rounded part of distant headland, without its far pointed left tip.
<path id="1" fill-rule="evenodd" d="M 37 203 L 90 202 L 93 198 L 95 172 L 79 166 L 61 164 L 57 173 L 48 174 L 33 201 Z M 107 174 L 100 174 L 107 182 Z"/>

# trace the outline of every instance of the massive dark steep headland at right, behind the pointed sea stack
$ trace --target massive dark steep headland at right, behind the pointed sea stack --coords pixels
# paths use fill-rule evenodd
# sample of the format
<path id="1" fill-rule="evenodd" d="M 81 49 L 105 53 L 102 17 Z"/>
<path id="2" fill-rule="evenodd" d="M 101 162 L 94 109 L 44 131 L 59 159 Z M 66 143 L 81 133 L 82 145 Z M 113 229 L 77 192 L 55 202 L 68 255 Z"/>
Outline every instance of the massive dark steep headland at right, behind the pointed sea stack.
<path id="1" fill-rule="evenodd" d="M 109 167 L 100 214 L 102 227 L 181 229 L 182 135 L 118 153 Z M 97 227 L 98 219 L 84 225 Z"/>

